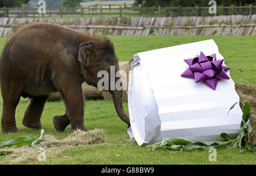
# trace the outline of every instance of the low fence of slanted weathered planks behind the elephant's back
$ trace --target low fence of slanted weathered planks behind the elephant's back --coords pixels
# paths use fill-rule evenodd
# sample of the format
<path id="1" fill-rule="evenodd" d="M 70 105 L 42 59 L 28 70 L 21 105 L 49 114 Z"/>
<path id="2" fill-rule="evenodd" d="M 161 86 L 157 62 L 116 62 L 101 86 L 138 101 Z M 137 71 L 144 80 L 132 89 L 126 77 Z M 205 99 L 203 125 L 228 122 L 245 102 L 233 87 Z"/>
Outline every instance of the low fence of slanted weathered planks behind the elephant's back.
<path id="1" fill-rule="evenodd" d="M 116 18 L 0 18 L 0 37 L 19 26 L 55 23 L 93 35 L 256 35 L 256 15 Z"/>

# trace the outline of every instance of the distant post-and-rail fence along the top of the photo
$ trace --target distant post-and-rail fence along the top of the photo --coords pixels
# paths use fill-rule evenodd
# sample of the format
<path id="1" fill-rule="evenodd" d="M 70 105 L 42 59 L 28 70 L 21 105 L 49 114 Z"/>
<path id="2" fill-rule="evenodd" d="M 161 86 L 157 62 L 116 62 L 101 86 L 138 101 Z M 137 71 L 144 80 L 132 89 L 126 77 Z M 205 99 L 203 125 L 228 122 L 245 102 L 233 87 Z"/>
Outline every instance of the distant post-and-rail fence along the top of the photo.
<path id="1" fill-rule="evenodd" d="M 39 14 L 38 8 L 0 8 L 0 16 L 2 17 L 52 17 L 57 15 L 63 18 L 64 15 L 76 15 L 77 17 L 90 16 L 214 16 L 214 15 L 253 15 L 256 14 L 256 6 L 217 6 L 217 14 L 209 14 L 209 7 L 132 7 L 117 5 L 93 5 L 88 7 L 60 7 L 47 8 L 46 14 Z M 74 16 L 72 16 L 74 17 Z"/>

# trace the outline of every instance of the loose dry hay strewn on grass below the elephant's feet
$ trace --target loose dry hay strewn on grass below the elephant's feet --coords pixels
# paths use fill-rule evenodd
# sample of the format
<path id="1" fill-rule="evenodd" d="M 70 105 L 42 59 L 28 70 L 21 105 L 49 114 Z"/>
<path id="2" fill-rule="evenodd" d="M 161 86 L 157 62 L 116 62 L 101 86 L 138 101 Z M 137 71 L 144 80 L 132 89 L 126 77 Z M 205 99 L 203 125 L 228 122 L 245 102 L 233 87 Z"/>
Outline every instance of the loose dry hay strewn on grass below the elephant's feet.
<path id="1" fill-rule="evenodd" d="M 0 151 L 13 151 L 3 159 L 3 164 L 16 163 L 36 163 L 38 156 L 43 151 L 46 152 L 47 158 L 54 158 L 57 154 L 75 148 L 76 146 L 84 146 L 90 144 L 98 144 L 105 142 L 104 131 L 102 129 L 94 129 L 93 131 L 83 132 L 75 131 L 63 140 L 57 140 L 52 135 L 45 135 L 43 139 L 46 141 L 40 142 L 35 148 L 31 146 L 19 146 L 11 148 L 1 148 Z"/>

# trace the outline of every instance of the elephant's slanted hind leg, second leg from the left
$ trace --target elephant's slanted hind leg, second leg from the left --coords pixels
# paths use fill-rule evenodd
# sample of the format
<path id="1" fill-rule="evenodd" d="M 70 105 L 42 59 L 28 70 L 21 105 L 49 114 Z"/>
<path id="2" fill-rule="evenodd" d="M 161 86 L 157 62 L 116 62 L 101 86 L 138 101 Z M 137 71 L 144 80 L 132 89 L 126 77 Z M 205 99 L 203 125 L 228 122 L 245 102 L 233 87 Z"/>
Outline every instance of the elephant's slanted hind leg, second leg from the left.
<path id="1" fill-rule="evenodd" d="M 44 104 L 49 96 L 34 97 L 30 100 L 25 111 L 22 124 L 28 128 L 42 128 L 41 115 L 44 109 Z"/>

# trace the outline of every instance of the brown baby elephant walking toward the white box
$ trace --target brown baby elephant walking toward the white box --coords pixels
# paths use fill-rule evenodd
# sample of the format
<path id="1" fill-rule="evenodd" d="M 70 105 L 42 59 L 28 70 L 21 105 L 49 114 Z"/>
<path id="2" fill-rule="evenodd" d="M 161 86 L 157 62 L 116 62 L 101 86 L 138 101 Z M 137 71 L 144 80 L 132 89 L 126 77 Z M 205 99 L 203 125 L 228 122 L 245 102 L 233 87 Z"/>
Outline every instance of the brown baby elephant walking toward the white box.
<path id="1" fill-rule="evenodd" d="M 97 86 L 100 70 L 110 75 L 110 66 L 118 72 L 113 44 L 105 37 L 94 37 L 56 24 L 36 23 L 14 33 L 6 43 L 0 60 L 3 98 L 2 132 L 17 132 L 15 109 L 20 96 L 30 103 L 22 123 L 28 128 L 42 128 L 40 117 L 44 103 L 59 91 L 65 114 L 53 117 L 57 131 L 71 124 L 72 131 L 88 131 L 84 125 L 82 82 Z M 109 85 L 118 81 L 114 78 Z M 105 87 L 105 85 L 104 85 Z M 110 86 L 109 86 L 110 87 Z M 110 89 L 109 89 L 110 90 Z M 130 126 L 122 107 L 122 90 L 110 90 L 118 116 Z"/>

